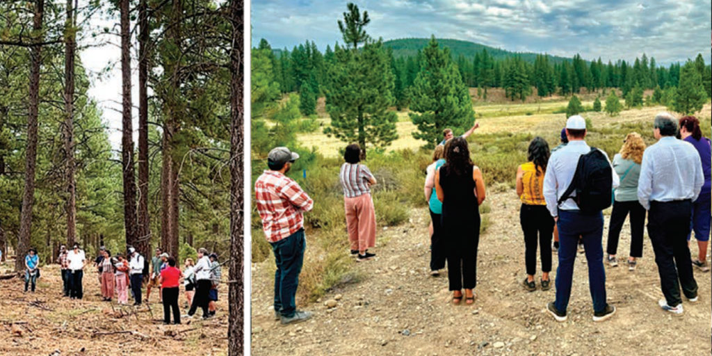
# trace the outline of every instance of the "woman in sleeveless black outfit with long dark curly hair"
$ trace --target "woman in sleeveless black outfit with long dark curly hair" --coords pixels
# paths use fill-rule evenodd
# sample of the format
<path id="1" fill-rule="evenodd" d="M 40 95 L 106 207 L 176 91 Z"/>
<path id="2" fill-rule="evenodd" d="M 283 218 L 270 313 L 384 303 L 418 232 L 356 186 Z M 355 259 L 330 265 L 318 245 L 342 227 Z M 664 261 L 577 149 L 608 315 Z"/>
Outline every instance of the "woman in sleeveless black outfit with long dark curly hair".
<path id="1" fill-rule="evenodd" d="M 441 226 L 445 241 L 448 279 L 452 301 L 475 302 L 477 249 L 480 242 L 479 206 L 485 200 L 482 172 L 470 159 L 467 141 L 461 137 L 448 142 L 446 163 L 435 174 L 435 191 L 442 202 Z"/>

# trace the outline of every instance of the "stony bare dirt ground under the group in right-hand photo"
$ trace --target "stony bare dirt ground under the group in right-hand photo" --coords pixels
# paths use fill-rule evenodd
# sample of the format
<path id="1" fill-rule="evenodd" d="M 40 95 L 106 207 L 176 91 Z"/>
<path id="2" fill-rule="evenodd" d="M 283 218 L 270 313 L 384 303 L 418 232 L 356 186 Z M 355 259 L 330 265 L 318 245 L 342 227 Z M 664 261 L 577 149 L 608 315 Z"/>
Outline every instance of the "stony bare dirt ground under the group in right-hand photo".
<path id="1" fill-rule="evenodd" d="M 342 295 L 337 308 L 329 310 L 323 303 L 303 306 L 315 313 L 306 323 L 282 327 L 273 320 L 273 279 L 266 272 L 273 271 L 272 262 L 256 266 L 252 354 L 709 355 L 709 274 L 696 272 L 700 303 L 686 303 L 684 316 L 667 315 L 657 306 L 662 293 L 646 237 L 636 272 L 606 267 L 609 303 L 618 312 L 598 324 L 592 321 L 585 257 L 579 255 L 569 321 L 556 323 L 545 313 L 554 289 L 527 293 L 520 287 L 525 271 L 517 197 L 511 191 L 490 194 L 491 227 L 481 236 L 474 305 L 450 305 L 447 278 L 428 276 L 429 216 L 418 209 L 411 224 L 381 231 L 374 261 L 357 263 L 364 281 L 334 290 L 322 300 Z M 606 239 L 607 229 L 604 244 Z M 626 224 L 620 258 L 626 258 L 629 244 Z"/>

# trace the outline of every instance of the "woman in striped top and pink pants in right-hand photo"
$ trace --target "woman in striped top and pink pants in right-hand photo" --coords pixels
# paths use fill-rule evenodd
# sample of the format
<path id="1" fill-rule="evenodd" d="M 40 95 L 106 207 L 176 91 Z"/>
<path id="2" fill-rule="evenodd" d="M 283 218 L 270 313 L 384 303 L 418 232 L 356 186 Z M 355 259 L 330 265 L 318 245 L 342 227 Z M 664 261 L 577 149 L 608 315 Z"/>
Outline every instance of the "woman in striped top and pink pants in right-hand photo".
<path id="1" fill-rule="evenodd" d="M 376 178 L 361 162 L 361 147 L 349 145 L 344 154 L 339 179 L 344 189 L 346 224 L 351 243 L 351 255 L 356 261 L 367 261 L 376 256 L 369 248 L 376 246 L 376 211 L 371 198 L 371 186 Z"/>

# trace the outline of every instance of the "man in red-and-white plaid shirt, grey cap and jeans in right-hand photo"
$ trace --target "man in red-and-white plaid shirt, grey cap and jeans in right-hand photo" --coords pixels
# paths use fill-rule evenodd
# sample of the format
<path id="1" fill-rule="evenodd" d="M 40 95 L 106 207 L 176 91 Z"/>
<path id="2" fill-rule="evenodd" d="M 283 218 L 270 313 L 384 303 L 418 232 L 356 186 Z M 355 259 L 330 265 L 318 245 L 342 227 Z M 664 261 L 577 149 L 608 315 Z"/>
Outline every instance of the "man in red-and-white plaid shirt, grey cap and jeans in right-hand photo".
<path id="1" fill-rule="evenodd" d="M 285 175 L 298 158 L 286 147 L 275 148 L 268 156 L 269 170 L 255 183 L 257 210 L 277 265 L 274 310 L 282 325 L 312 317 L 312 313 L 298 311 L 295 303 L 306 248 L 303 213 L 314 206 L 299 184 Z"/>

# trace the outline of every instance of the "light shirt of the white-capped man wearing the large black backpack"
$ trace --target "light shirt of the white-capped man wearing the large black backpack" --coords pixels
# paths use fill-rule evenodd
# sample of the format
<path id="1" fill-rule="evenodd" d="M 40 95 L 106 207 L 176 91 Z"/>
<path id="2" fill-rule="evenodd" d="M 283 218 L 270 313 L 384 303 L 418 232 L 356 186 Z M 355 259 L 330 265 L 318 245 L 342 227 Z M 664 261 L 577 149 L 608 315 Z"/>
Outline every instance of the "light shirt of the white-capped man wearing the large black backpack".
<path id="1" fill-rule="evenodd" d="M 585 141 L 570 141 L 568 145 L 551 155 L 544 177 L 544 199 L 546 200 L 546 207 L 549 209 L 551 216 L 559 216 L 559 209 L 579 210 L 576 201 L 573 199 L 567 199 L 561 206 L 559 206 L 558 201 L 574 179 L 579 157 L 586 155 L 588 152 L 591 152 L 591 147 L 589 147 Z M 603 152 L 603 155 L 608 159 L 606 152 Z M 610 159 L 608 159 L 608 162 L 611 162 Z M 612 166 L 611 171 L 613 172 L 613 187 L 617 188 L 620 184 L 620 179 Z M 576 197 L 576 192 L 573 192 L 571 197 Z"/>

